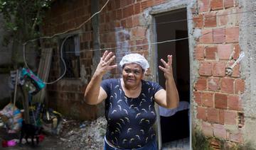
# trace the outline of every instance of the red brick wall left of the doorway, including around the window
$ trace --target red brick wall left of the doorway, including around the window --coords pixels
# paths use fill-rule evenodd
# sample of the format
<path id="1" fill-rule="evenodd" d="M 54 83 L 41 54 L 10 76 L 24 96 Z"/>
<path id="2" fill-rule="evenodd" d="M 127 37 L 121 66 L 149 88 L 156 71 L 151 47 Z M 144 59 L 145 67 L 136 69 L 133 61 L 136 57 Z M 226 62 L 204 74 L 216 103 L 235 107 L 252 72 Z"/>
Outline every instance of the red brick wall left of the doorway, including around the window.
<path id="1" fill-rule="evenodd" d="M 100 1 L 99 8 L 105 4 L 105 0 Z M 117 62 L 127 52 L 139 52 L 145 57 L 149 55 L 147 45 L 132 47 L 148 43 L 146 37 L 146 26 L 139 21 L 144 9 L 164 3 L 164 0 L 129 1 L 129 0 L 110 0 L 109 4 L 99 13 L 100 17 L 100 47 L 112 49 L 117 56 Z M 70 28 L 76 28 L 91 16 L 90 0 L 78 1 L 55 1 L 52 8 L 48 11 L 43 25 L 45 35 L 61 33 Z M 83 93 L 90 81 L 95 65 L 92 64 L 94 52 L 92 24 L 88 21 L 80 29 L 80 66 L 86 74 L 81 79 L 67 80 L 62 79 L 58 83 L 48 85 L 49 105 L 64 115 L 70 115 L 79 119 L 94 119 L 97 116 L 97 107 L 82 103 Z M 60 52 L 54 40 L 46 40 L 45 47 L 55 48 L 53 62 L 50 69 L 49 81 L 58 79 L 60 73 Z M 103 52 L 103 51 L 102 51 Z M 110 76 L 119 76 L 120 70 L 111 71 Z M 149 71 L 150 73 L 150 71 Z M 149 74 L 148 74 L 149 75 Z M 106 78 L 110 77 L 106 76 Z M 85 81 L 85 82 L 82 82 Z"/>

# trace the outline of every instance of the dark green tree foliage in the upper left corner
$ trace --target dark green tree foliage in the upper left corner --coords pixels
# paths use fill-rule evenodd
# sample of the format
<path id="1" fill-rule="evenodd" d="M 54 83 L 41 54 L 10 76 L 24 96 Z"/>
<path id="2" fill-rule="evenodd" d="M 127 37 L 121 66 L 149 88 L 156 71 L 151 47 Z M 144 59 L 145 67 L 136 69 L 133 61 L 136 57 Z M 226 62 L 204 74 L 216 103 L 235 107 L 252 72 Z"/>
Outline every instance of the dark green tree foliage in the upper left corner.
<path id="1" fill-rule="evenodd" d="M 0 0 L 0 13 L 10 40 L 25 40 L 40 35 L 39 26 L 53 0 Z M 20 36 L 17 36 L 20 35 Z"/>

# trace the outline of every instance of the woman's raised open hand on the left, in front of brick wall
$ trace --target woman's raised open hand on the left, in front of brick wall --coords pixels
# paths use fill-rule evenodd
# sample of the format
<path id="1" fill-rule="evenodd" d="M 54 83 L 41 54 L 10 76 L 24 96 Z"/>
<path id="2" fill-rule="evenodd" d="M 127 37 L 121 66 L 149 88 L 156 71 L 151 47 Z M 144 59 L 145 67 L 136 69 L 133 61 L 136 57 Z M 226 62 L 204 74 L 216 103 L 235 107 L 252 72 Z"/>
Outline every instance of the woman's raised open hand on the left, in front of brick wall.
<path id="1" fill-rule="evenodd" d="M 110 65 L 113 62 L 115 56 L 113 52 L 104 52 L 103 56 L 100 58 L 100 63 L 97 65 L 97 69 L 95 70 L 95 74 L 104 75 L 107 71 L 114 69 L 117 67 L 117 64 Z"/>

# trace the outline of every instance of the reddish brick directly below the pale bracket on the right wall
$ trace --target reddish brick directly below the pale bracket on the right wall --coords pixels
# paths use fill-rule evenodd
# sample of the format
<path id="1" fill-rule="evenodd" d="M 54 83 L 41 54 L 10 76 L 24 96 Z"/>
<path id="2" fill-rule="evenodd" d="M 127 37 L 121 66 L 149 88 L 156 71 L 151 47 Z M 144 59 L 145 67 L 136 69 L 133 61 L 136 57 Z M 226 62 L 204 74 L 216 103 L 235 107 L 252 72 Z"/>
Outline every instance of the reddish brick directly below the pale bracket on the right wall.
<path id="1" fill-rule="evenodd" d="M 223 78 L 220 80 L 220 91 L 234 93 L 234 79 Z"/>

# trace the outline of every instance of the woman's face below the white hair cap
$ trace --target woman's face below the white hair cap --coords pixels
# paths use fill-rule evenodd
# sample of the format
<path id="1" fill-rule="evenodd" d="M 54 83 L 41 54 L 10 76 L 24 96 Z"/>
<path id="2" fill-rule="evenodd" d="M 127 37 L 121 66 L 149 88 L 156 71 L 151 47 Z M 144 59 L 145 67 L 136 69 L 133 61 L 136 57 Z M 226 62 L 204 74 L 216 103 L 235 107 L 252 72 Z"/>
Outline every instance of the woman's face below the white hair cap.
<path id="1" fill-rule="evenodd" d="M 122 69 L 122 76 L 124 80 L 124 85 L 129 88 L 134 88 L 139 85 L 144 76 L 144 71 L 139 64 L 131 63 L 124 64 Z"/>

